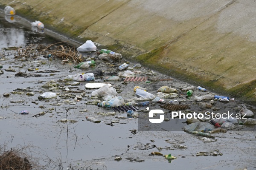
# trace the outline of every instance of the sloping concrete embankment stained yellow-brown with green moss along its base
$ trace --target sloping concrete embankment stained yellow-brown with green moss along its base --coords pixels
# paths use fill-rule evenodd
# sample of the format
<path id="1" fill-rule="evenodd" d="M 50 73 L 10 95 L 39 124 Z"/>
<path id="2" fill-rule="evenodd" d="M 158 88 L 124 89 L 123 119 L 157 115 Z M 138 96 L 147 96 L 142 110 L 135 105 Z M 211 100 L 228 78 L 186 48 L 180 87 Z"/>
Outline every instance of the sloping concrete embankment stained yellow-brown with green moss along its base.
<path id="1" fill-rule="evenodd" d="M 221 94 L 256 98 L 256 2 L 244 0 L 0 0 L 72 39 Z"/>

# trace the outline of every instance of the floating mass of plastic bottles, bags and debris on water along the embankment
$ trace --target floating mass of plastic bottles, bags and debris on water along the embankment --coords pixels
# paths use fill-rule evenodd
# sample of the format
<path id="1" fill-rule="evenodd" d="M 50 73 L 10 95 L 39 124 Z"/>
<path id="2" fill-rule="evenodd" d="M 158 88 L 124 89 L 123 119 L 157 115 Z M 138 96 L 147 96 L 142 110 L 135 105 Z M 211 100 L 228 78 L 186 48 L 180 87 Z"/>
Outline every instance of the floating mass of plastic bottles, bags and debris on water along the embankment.
<path id="1" fill-rule="evenodd" d="M 38 21 L 35 24 L 38 27 Z M 66 75 L 58 77 L 59 79 L 39 82 L 42 83 L 40 90 L 16 89 L 13 93 L 3 94 L 4 97 L 25 95 L 26 91 L 26 96 L 36 98 L 33 102 L 37 104 L 44 101 L 46 103 L 50 101 L 49 105 L 54 107 L 80 104 L 79 106 L 83 109 L 79 112 L 84 113 L 84 119 L 86 119 L 84 122 L 102 124 L 106 119 L 110 119 L 111 123 L 105 124 L 111 126 L 114 126 L 114 123 L 126 124 L 127 119 L 137 119 L 140 114 L 148 116 L 150 110 L 154 109 L 162 109 L 165 116 L 172 116 L 174 111 L 182 111 L 183 116 L 194 112 L 198 119 L 187 118 L 185 121 L 188 125 L 182 130 L 199 136 L 207 142 L 215 141 L 214 133 L 226 133 L 228 130 L 246 128 L 244 125 L 256 125 L 256 119 L 253 119 L 254 113 L 247 109 L 248 106 L 245 104 L 227 96 L 218 96 L 201 86 L 187 87 L 186 85 L 185 87 L 177 80 L 148 70 L 140 63 L 120 62 L 122 54 L 107 49 L 98 50 L 90 40 L 79 46 L 77 51 L 63 45 L 55 46 L 55 49 L 50 47 L 52 46 L 39 48 L 30 45 L 23 50 L 17 49 L 16 56 L 17 59 L 25 57 L 24 60 L 21 58 L 20 62 L 26 62 L 29 59 L 28 56 L 33 59 L 44 59 L 44 62 L 61 59 L 61 64 L 70 66 L 69 72 L 66 71 Z M 84 52 L 90 52 L 91 55 L 85 55 Z M 39 67 L 42 63 L 37 62 L 37 66 Z M 47 72 L 37 71 L 37 73 L 46 74 Z M 49 71 L 49 74 L 52 73 L 55 72 Z M 238 103 L 241 107 L 232 110 L 233 116 L 223 116 L 227 109 L 221 113 L 222 109 L 228 107 L 220 107 L 235 108 L 234 106 L 238 106 Z M 42 105 L 40 107 L 45 109 Z M 203 115 L 202 118 L 199 117 L 200 113 Z M 21 111 L 20 114 L 27 115 L 29 111 Z M 34 117 L 38 115 L 41 116 L 41 113 Z M 211 119 L 206 119 L 207 116 Z M 76 120 L 61 119 L 60 121 L 76 123 Z M 164 121 L 170 120 L 166 117 Z M 136 135 L 136 133 L 136 130 L 133 130 L 133 134 Z M 185 146 L 174 147 L 184 149 Z M 207 154 L 221 155 L 216 151 Z M 168 161 L 177 158 L 158 152 L 152 152 L 151 155 L 164 156 Z M 206 153 L 197 153 L 197 156 L 203 155 Z M 118 157 L 115 160 L 121 161 Z"/>

